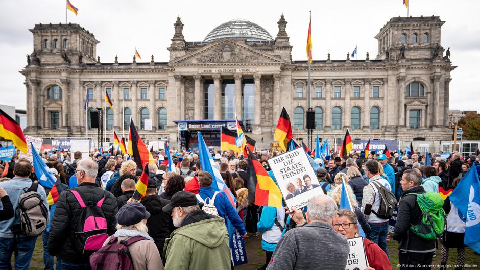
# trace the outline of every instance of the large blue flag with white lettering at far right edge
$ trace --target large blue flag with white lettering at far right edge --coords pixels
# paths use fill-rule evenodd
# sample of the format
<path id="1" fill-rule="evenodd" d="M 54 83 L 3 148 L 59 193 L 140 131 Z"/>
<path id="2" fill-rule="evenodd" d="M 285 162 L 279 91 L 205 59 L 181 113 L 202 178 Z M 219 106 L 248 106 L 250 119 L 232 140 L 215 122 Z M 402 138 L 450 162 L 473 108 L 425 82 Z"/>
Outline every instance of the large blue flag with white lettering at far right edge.
<path id="1" fill-rule="evenodd" d="M 480 181 L 475 166 L 457 184 L 450 201 L 467 217 L 463 243 L 480 253 Z"/>

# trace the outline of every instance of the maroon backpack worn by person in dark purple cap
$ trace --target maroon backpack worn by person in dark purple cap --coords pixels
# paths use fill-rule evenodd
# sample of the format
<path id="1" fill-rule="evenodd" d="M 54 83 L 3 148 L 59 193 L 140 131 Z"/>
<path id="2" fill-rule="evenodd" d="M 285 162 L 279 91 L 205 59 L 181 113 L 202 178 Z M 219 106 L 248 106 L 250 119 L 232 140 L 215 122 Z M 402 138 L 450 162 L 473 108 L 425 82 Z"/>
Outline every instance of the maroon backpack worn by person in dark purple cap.
<path id="1" fill-rule="evenodd" d="M 118 243 L 117 238 L 112 236 L 105 247 L 90 256 L 91 268 L 93 270 L 133 270 L 132 257 L 127 247 L 145 239 L 147 238 L 135 236 Z"/>

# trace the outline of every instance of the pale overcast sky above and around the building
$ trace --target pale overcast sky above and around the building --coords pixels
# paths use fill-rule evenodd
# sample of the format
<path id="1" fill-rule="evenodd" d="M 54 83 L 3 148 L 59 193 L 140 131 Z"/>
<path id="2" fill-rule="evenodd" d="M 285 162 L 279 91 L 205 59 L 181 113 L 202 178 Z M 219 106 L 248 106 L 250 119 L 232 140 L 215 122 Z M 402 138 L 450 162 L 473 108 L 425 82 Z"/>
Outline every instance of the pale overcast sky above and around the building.
<path id="1" fill-rule="evenodd" d="M 478 75 L 480 23 L 478 0 L 410 0 L 411 16 L 440 16 L 442 46 L 450 47 L 452 71 L 450 109 L 480 111 Z M 21 4 L 20 4 L 21 3 Z M 259 24 L 275 38 L 283 13 L 293 45 L 293 60 L 306 60 L 308 11 L 312 12 L 314 60 L 345 59 L 358 45 L 358 59 L 377 54 L 374 36 L 391 17 L 406 16 L 402 0 L 336 1 L 153 1 L 71 0 L 78 16 L 68 11 L 68 22 L 79 23 L 100 41 L 97 54 L 102 62 L 131 62 L 136 47 L 143 61 L 155 56 L 167 62 L 173 23 L 180 15 L 186 41 L 202 41 L 216 26 L 242 18 Z M 26 108 L 25 78 L 18 72 L 33 51 L 28 29 L 37 23 L 65 22 L 64 0 L 1 0 L 0 10 L 0 104 Z M 137 60 L 141 61 L 141 60 Z M 33 97 L 35 99 L 35 97 Z"/>

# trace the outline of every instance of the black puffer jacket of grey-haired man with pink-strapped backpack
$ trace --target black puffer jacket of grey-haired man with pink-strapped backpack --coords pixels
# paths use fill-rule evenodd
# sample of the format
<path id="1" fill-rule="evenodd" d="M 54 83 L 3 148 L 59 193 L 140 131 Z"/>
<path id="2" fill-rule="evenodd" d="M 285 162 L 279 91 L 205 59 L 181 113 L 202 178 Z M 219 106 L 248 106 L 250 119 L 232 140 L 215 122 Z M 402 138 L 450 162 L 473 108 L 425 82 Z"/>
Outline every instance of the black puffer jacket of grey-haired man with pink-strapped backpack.
<path id="1" fill-rule="evenodd" d="M 93 183 L 82 183 L 78 187 L 70 189 L 76 190 L 84 198 L 85 204 L 97 203 L 104 195 L 105 200 L 102 204 L 102 211 L 107 220 L 107 233 L 112 235 L 115 233 L 116 219 L 115 214 L 118 212 L 115 197 Z M 58 198 L 55 214 L 50 222 L 50 236 L 48 249 L 52 256 L 60 256 L 63 260 L 70 263 L 88 263 L 89 254 L 77 254 L 74 249 L 75 232 L 80 231 L 77 228 L 82 208 L 75 198 L 74 194 L 68 191 L 62 192 Z"/>

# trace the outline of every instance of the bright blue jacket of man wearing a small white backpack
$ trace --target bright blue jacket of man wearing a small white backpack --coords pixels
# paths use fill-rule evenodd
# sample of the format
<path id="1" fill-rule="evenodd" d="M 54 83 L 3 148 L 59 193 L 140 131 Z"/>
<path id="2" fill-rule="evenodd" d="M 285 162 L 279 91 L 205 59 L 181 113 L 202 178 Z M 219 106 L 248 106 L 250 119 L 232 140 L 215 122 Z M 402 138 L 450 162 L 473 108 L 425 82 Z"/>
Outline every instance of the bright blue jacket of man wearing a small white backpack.
<path id="1" fill-rule="evenodd" d="M 212 187 L 202 187 L 198 190 L 198 194 L 205 201 L 205 199 L 213 197 L 215 190 Z M 217 197 L 215 197 L 213 204 L 215 205 L 215 208 L 217 208 L 220 217 L 223 217 L 225 220 L 228 218 L 241 235 L 245 234 L 245 226 L 242 219 L 240 219 L 236 209 L 228 200 L 227 194 L 220 192 Z"/>

